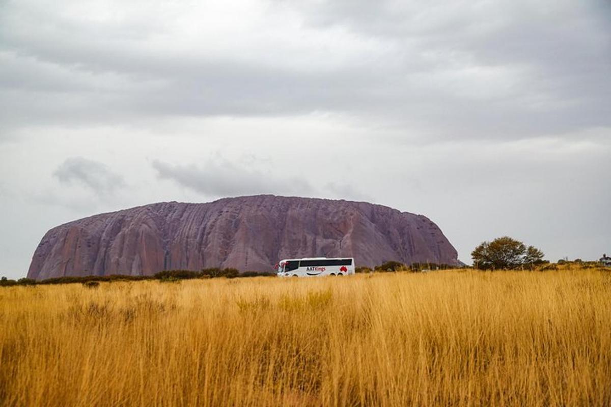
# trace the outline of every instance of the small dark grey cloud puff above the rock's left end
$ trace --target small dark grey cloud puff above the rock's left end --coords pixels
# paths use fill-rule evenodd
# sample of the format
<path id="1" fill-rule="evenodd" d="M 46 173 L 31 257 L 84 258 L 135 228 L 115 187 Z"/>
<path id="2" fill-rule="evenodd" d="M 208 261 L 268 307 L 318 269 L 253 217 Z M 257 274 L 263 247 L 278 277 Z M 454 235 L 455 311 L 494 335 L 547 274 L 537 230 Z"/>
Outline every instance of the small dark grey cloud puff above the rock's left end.
<path id="1" fill-rule="evenodd" d="M 112 193 L 125 186 L 122 176 L 112 172 L 101 162 L 83 157 L 70 157 L 56 170 L 53 176 L 63 184 L 80 184 L 98 195 Z"/>

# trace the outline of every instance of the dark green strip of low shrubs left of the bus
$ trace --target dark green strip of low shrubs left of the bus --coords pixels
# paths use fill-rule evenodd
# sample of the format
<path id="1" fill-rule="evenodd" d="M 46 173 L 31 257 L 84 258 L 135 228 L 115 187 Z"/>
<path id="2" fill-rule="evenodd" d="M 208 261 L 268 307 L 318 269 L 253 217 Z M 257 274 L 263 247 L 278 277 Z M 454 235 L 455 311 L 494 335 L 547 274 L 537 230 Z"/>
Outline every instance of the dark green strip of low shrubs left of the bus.
<path id="1" fill-rule="evenodd" d="M 6 277 L 0 278 L 0 287 L 10 286 L 40 286 L 46 284 L 73 284 L 81 283 L 87 286 L 95 286 L 92 283 L 103 283 L 112 281 L 143 281 L 143 280 L 158 280 L 163 283 L 180 281 L 185 279 L 194 278 L 247 278 L 257 276 L 272 276 L 275 273 L 265 272 L 244 272 L 240 273 L 237 268 L 204 268 L 200 272 L 193 272 L 191 270 L 164 270 L 163 272 L 155 273 L 152 276 L 130 276 L 130 275 L 109 275 L 109 276 L 64 276 L 56 278 L 47 278 L 37 281 L 32 278 L 20 278 L 17 280 L 8 279 Z"/>

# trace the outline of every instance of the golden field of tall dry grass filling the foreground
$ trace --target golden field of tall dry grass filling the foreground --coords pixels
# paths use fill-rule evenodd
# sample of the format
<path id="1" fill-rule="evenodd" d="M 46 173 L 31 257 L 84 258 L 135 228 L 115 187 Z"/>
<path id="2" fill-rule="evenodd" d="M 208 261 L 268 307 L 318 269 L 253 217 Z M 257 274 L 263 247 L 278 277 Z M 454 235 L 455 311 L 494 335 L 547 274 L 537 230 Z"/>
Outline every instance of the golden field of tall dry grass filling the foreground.
<path id="1" fill-rule="evenodd" d="M 0 405 L 611 405 L 611 272 L 0 288 Z"/>

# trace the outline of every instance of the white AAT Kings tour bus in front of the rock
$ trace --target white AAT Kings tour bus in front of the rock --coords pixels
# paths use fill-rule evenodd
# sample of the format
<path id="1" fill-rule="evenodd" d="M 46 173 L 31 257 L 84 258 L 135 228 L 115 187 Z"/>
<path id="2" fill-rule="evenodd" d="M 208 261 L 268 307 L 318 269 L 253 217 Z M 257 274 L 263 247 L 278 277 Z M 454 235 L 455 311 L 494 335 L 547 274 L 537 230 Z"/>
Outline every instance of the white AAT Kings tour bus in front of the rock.
<path id="1" fill-rule="evenodd" d="M 304 258 L 281 260 L 279 277 L 346 276 L 354 274 L 353 258 Z"/>

